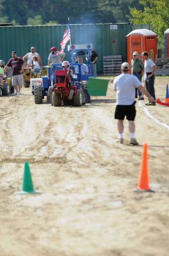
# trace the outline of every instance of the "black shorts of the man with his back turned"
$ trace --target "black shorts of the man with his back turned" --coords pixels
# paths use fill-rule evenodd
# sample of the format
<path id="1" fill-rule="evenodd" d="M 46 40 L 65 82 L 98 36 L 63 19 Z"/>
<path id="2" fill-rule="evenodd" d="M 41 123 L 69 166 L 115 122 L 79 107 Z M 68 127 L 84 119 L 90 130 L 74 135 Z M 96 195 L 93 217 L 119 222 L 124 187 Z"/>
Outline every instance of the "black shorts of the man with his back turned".
<path id="1" fill-rule="evenodd" d="M 129 121 L 134 121 L 136 116 L 136 108 L 134 102 L 132 105 L 117 105 L 115 108 L 115 119 L 124 120 L 125 116 L 126 119 Z"/>

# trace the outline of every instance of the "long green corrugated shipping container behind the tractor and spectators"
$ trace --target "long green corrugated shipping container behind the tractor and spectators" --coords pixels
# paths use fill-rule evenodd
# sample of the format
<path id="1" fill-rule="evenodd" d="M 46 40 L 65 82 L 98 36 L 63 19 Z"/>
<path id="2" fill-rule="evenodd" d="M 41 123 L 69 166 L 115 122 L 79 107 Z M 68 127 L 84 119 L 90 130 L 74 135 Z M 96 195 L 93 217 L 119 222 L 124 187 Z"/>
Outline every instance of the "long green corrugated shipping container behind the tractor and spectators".
<path id="1" fill-rule="evenodd" d="M 137 28 L 151 29 L 151 26 L 133 26 L 131 23 L 71 24 L 71 44 L 93 44 L 99 56 L 97 71 L 103 72 L 103 56 L 122 55 L 122 61 L 127 60 L 126 35 Z M 11 51 L 16 51 L 17 56 L 23 57 L 34 46 L 43 65 L 47 65 L 50 48 L 56 46 L 57 51 L 60 51 L 65 30 L 66 25 L 0 26 L 0 59 L 6 63 L 11 58 Z M 70 61 L 68 44 L 70 42 L 66 44 L 64 52 L 65 60 Z"/>

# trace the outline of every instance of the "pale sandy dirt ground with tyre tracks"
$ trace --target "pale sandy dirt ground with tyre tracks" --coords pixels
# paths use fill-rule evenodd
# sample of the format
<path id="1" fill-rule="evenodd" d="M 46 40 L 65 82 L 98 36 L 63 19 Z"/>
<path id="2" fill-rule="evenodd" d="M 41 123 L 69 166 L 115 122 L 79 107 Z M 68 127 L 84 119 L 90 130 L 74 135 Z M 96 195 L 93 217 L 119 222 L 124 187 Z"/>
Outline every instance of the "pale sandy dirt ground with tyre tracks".
<path id="1" fill-rule="evenodd" d="M 156 77 L 163 101 L 166 83 Z M 126 121 L 117 144 L 112 84 L 82 108 L 36 105 L 30 88 L 0 101 L 1 256 L 169 255 L 169 108 L 136 103 L 135 147 Z M 133 192 L 143 143 L 156 193 Z M 25 161 L 39 194 L 16 194 Z"/>

